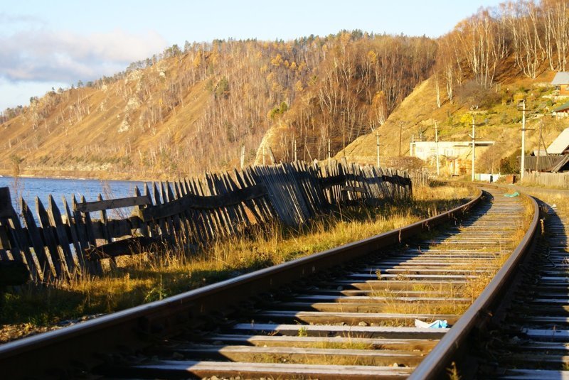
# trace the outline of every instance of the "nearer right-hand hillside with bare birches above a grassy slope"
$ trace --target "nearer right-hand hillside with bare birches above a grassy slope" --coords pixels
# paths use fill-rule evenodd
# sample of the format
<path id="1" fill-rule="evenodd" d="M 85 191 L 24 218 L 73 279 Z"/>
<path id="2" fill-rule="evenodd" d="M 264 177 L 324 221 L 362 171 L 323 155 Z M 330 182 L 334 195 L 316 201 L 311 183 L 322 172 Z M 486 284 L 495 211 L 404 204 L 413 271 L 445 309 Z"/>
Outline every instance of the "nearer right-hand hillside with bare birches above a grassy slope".
<path id="1" fill-rule="evenodd" d="M 398 156 L 400 139 L 403 156 L 413 136 L 434 141 L 435 124 L 442 141 L 469 141 L 474 116 L 477 138 L 496 141 L 479 154 L 477 170 L 496 173 L 504 158 L 519 156 L 521 100 L 528 110 L 526 154 L 538 148 L 540 130 L 551 143 L 569 126 L 551 116 L 568 99 L 556 97 L 549 85 L 555 72 L 569 70 L 568 59 L 569 1 L 508 1 L 480 9 L 437 39 L 432 76 L 379 129 L 384 163 L 405 163 L 390 159 Z M 375 134 L 362 136 L 344 154 L 375 163 Z"/>

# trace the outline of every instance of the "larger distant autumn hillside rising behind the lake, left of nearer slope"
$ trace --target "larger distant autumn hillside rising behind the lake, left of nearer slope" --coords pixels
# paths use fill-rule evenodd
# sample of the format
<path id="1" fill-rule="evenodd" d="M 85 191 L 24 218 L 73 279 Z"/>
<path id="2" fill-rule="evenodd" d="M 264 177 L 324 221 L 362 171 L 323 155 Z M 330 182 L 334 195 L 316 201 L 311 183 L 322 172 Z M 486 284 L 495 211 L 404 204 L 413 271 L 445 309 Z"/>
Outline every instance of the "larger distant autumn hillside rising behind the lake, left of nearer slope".
<path id="1" fill-rule="evenodd" d="M 0 165 L 4 173 L 19 163 L 31 174 L 195 174 L 238 165 L 242 146 L 252 163 L 283 122 L 289 128 L 270 143 L 277 159 L 290 158 L 295 134 L 299 152 L 323 158 L 328 139 L 337 151 L 385 120 L 434 63 L 432 40 L 359 31 L 174 45 L 115 77 L 4 111 Z"/>

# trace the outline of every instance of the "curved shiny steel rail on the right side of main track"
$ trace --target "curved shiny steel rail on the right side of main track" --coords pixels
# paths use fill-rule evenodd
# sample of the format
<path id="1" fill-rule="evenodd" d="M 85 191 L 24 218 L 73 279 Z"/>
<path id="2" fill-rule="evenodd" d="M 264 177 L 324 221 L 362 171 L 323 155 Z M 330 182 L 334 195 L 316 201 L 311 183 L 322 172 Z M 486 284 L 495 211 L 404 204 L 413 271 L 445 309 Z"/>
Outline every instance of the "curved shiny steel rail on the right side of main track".
<path id="1" fill-rule="evenodd" d="M 521 265 L 523 257 L 531 251 L 533 237 L 538 230 L 538 204 L 533 197 L 523 196 L 528 198 L 533 206 L 533 219 L 520 244 L 516 246 L 504 266 L 484 288 L 482 294 L 415 368 L 413 374 L 409 376 L 409 380 L 446 379 L 448 377 L 447 370 L 452 366 L 452 362 L 457 361 L 459 355 L 467 349 L 467 341 L 472 332 L 489 321 L 501 295 L 506 291 Z"/>

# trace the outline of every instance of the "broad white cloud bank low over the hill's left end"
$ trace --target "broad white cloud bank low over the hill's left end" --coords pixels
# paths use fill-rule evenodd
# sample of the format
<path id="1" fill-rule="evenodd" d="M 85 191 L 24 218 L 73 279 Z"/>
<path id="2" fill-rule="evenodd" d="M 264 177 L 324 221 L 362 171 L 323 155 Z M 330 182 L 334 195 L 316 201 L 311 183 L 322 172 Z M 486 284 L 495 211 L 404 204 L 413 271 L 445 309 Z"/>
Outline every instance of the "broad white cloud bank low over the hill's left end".
<path id="1" fill-rule="evenodd" d="M 0 77 L 12 82 L 93 80 L 160 53 L 166 45 L 154 31 L 132 34 L 115 29 L 88 35 L 45 28 L 18 31 L 0 36 Z"/>

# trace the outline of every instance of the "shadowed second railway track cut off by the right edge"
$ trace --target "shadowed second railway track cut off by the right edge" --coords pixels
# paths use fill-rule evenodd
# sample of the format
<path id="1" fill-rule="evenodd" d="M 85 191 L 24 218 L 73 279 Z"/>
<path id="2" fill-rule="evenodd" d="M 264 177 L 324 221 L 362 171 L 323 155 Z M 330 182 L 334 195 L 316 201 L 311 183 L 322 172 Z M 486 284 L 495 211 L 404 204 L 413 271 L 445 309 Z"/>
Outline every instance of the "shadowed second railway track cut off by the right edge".
<path id="1" fill-rule="evenodd" d="M 477 377 L 569 379 L 569 215 L 544 204 L 543 234 L 486 335 Z"/>

